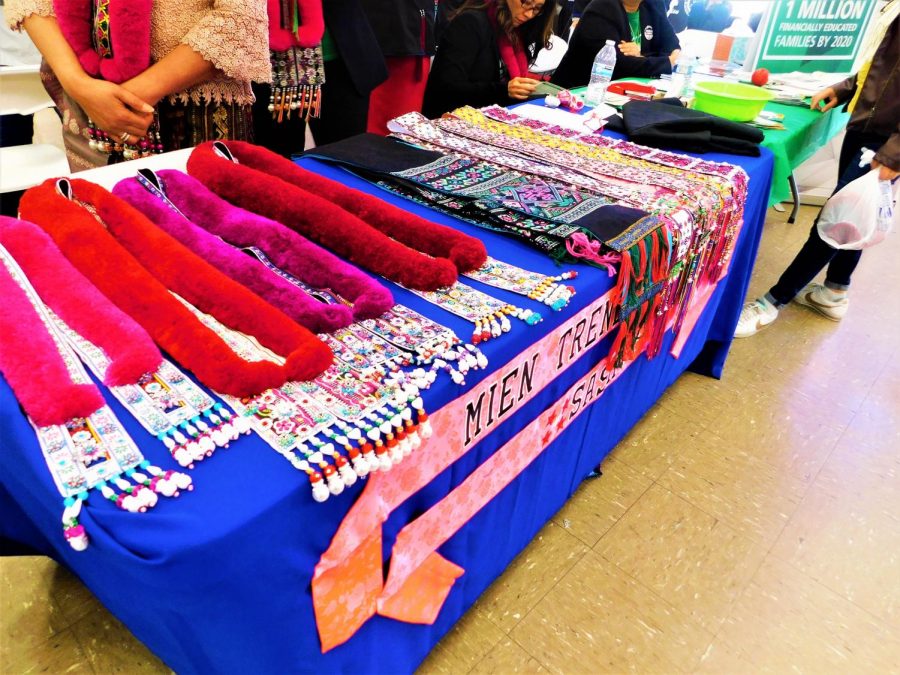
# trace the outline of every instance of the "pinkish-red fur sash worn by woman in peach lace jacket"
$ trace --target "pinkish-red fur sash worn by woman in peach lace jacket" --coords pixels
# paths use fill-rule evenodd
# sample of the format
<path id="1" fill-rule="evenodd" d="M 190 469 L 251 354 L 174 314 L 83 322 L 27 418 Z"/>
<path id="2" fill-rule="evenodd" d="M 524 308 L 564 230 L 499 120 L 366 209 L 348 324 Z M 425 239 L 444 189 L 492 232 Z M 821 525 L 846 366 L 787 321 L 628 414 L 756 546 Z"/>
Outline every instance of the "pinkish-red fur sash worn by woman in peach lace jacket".
<path id="1" fill-rule="evenodd" d="M 85 72 L 122 83 L 150 67 L 150 14 L 153 0 L 108 0 L 111 54 L 94 48 L 93 0 L 53 0 L 56 21 Z"/>

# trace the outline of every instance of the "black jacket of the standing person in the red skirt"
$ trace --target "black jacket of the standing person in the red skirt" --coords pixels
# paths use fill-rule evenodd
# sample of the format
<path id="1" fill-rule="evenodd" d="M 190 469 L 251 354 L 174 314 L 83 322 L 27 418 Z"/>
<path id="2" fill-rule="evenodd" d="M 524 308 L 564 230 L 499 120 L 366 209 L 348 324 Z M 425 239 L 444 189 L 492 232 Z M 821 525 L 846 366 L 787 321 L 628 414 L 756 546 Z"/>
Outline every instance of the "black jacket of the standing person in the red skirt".
<path id="1" fill-rule="evenodd" d="M 385 56 L 431 56 L 437 0 L 362 0 Z"/>

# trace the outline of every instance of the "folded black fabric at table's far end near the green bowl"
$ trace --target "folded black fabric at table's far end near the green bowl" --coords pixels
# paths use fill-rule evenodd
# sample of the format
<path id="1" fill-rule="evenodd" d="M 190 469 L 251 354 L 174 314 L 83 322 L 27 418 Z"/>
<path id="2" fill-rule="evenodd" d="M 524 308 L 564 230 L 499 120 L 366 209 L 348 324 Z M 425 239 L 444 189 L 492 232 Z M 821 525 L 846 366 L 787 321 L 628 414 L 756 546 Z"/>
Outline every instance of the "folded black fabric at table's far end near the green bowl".
<path id="1" fill-rule="evenodd" d="M 641 145 L 700 154 L 758 157 L 763 140 L 762 131 L 755 127 L 685 108 L 677 99 L 629 101 L 622 106 L 622 119 L 611 118 L 606 128 L 621 131 Z"/>

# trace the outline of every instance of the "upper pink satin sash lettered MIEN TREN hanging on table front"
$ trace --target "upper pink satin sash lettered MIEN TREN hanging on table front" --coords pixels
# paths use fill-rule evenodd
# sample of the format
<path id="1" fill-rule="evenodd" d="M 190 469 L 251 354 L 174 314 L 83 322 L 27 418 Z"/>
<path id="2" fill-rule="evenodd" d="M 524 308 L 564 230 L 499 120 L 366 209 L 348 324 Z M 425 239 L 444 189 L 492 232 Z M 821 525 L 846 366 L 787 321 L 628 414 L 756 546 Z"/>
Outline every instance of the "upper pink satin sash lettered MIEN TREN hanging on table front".
<path id="1" fill-rule="evenodd" d="M 495 402 L 494 408 L 500 405 L 503 381 L 508 378 L 512 366 L 529 364 L 530 368 L 528 378 L 531 387 L 527 392 L 521 389 L 520 379 L 524 373 L 520 373 L 515 383 L 511 379 L 506 380 L 506 388 L 515 389 L 518 408 L 589 351 L 588 343 L 598 343 L 604 332 L 612 330 L 613 325 L 606 326 L 606 331 L 601 327 L 604 312 L 614 311 L 609 307 L 612 296 L 610 291 L 598 298 L 471 391 L 432 414 L 430 420 L 434 433 L 428 442 L 427 452 L 414 453 L 394 467 L 390 475 L 376 473 L 369 478 L 365 490 L 344 518 L 313 575 L 313 605 L 323 652 L 347 641 L 379 609 L 390 611 L 388 606 L 379 608 L 378 603 L 384 586 L 382 523 L 407 498 L 505 421 L 506 417 L 493 419 L 493 424 L 488 425 L 490 416 L 485 409 L 491 400 Z M 576 339 L 581 349 L 576 350 Z M 479 400 L 482 405 L 479 416 L 481 433 L 474 434 L 467 442 L 466 407 Z M 512 411 L 509 416 L 512 416 Z M 462 574 L 461 569 L 451 565 L 438 565 L 440 570 L 434 579 L 434 587 L 429 593 L 422 593 L 421 597 L 428 598 L 431 603 L 431 614 L 423 611 L 424 616 L 437 616 L 444 599 L 437 595 L 437 589 L 446 588 L 449 591 L 444 580 L 455 578 L 454 574 Z"/>

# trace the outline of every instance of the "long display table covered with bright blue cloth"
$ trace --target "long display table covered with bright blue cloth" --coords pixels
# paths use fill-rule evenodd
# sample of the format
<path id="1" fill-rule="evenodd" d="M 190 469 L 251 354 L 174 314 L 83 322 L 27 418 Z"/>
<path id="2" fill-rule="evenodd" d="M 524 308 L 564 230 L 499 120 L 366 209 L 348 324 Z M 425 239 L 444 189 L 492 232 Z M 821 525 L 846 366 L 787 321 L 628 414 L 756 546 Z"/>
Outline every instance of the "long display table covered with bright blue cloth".
<path id="1" fill-rule="evenodd" d="M 0 534 L 73 570 L 179 673 L 411 672 L 684 370 L 721 375 L 768 205 L 772 155 L 764 150 L 759 158 L 705 158 L 742 165 L 750 175 L 749 195 L 730 272 L 707 297 L 689 338 L 677 346 L 679 357 L 670 353 L 669 334 L 655 359 L 642 356 L 615 373 L 599 369 L 611 335 L 601 339 L 598 326 L 603 296 L 613 280 L 600 269 L 578 266 L 577 295 L 561 312 L 489 289 L 497 297 L 546 310 L 545 320 L 532 328 L 520 323 L 511 333 L 486 343 L 490 365 L 470 373 L 465 387 L 443 378 L 426 392 L 435 426 L 430 443 L 442 435 L 456 438 L 465 444 L 465 452 L 385 514 L 381 558 L 376 553 L 374 560 L 379 573 L 379 563 L 387 561 L 392 551 L 391 575 L 396 572 L 400 544 L 409 544 L 408 535 L 417 530 L 399 537 L 398 533 L 451 493 L 458 494 L 453 491 L 477 478 L 483 463 L 494 458 L 506 469 L 508 450 L 532 452 L 535 443 L 540 444 L 538 450 L 546 446 L 534 453 L 521 473 L 512 474 L 493 499 L 473 509 L 458 531 L 434 539 L 424 530 L 424 537 L 413 537 L 413 543 L 434 539 L 440 555 L 464 570 L 452 583 L 446 602 L 436 608 L 432 624 L 374 616 L 344 644 L 322 653 L 313 611 L 313 571 L 354 502 L 365 503 L 376 484 L 371 478 L 360 481 L 343 495 L 315 503 L 305 476 L 256 436 L 244 437 L 199 464 L 192 472 L 193 492 L 161 501 L 146 514 L 126 513 L 92 496 L 81 517 L 91 536 L 90 547 L 73 551 L 62 537 L 62 500 L 34 433 L 2 380 Z M 155 158 L 156 166 L 160 161 L 165 159 Z M 473 234 L 496 258 L 543 273 L 559 271 L 517 241 L 398 200 L 339 169 L 308 159 L 301 163 Z M 413 294 L 396 286 L 392 291 L 398 302 L 451 326 L 460 336 L 471 331 L 470 324 Z M 145 456 L 171 467 L 162 444 L 150 438 L 114 398 L 108 396 L 107 401 Z M 448 417 L 453 410 L 467 412 Z M 394 472 L 405 471 L 407 463 L 415 467 L 417 462 L 435 461 L 448 449 L 423 445 L 377 479 L 389 481 Z M 364 489 L 367 493 L 361 495 Z"/>

